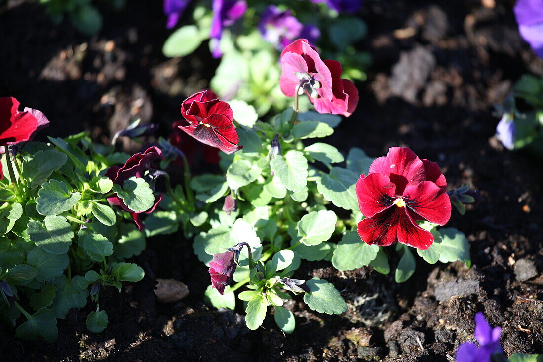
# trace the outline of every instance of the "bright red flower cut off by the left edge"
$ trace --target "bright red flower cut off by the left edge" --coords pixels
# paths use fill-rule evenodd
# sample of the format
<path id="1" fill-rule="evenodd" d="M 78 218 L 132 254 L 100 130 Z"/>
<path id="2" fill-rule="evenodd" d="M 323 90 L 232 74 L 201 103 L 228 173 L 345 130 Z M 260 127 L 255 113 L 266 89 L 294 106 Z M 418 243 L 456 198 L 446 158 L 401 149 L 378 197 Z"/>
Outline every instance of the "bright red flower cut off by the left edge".
<path id="1" fill-rule="evenodd" d="M 28 108 L 19 111 L 19 104 L 14 97 L 0 98 L 0 146 L 28 141 L 36 131 L 36 117 Z"/>

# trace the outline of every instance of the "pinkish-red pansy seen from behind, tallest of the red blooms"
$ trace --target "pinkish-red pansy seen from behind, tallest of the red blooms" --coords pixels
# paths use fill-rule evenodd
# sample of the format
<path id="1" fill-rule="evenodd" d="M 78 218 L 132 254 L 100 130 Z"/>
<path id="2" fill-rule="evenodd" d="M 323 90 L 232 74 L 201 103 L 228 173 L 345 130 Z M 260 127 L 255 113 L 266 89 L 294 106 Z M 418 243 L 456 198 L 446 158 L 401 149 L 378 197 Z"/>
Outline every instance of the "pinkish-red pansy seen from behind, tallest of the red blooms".
<path id="1" fill-rule="evenodd" d="M 279 85 L 287 97 L 294 97 L 299 89 L 299 94 L 305 92 L 319 113 L 350 116 L 355 111 L 356 86 L 341 78 L 338 61 L 321 60 L 317 49 L 306 39 L 298 39 L 283 50 L 281 65 Z"/>

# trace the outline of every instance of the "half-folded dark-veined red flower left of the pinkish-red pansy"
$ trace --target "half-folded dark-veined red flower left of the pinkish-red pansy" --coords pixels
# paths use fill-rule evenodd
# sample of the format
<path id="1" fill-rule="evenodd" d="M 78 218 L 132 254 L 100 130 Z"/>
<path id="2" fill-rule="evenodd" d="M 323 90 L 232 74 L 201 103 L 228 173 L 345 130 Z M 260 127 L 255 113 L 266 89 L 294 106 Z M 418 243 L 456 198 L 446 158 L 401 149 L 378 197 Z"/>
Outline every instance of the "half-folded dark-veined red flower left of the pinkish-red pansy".
<path id="1" fill-rule="evenodd" d="M 217 147 L 225 153 L 242 149 L 232 120 L 230 105 L 219 101 L 213 92 L 204 90 L 185 99 L 181 114 L 188 126 L 178 128 L 206 145 Z"/>

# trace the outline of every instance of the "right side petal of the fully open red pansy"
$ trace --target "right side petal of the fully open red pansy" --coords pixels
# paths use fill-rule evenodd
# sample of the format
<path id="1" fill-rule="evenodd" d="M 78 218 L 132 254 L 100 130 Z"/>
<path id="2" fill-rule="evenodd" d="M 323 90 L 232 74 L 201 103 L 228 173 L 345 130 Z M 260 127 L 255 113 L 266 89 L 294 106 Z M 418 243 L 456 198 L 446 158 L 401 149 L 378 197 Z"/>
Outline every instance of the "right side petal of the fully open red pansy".
<path id="1" fill-rule="evenodd" d="M 406 207 L 420 215 L 424 220 L 445 225 L 451 219 L 451 200 L 443 189 L 431 181 L 407 185 L 403 195 Z"/>

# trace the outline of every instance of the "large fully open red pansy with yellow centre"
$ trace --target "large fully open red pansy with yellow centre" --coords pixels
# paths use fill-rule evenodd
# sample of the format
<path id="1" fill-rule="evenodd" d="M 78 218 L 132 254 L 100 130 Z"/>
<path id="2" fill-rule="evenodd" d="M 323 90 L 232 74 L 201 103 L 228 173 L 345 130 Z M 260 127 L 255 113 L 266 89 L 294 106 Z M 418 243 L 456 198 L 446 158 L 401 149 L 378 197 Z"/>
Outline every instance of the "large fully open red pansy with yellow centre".
<path id="1" fill-rule="evenodd" d="M 365 219 L 358 234 L 369 245 L 389 246 L 400 242 L 426 250 L 432 233 L 416 220 L 444 225 L 451 217 L 447 182 L 438 164 L 419 159 L 407 147 L 392 147 L 377 158 L 367 176 L 356 184 L 358 205 Z"/>

